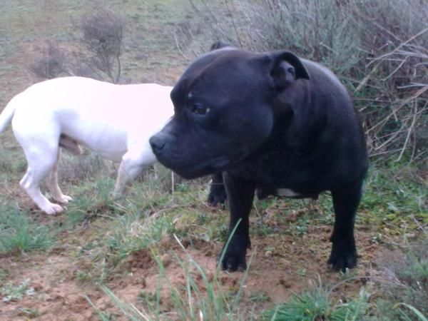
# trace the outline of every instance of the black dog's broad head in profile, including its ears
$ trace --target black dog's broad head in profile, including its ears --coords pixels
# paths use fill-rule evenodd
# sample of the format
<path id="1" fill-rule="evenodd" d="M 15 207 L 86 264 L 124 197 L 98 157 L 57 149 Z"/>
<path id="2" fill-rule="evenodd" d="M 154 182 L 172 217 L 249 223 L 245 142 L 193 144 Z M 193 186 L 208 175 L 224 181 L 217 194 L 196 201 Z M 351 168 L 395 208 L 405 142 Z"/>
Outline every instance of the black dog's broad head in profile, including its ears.
<path id="1" fill-rule="evenodd" d="M 272 131 L 272 101 L 309 78 L 289 51 L 212 48 L 180 77 L 171 92 L 175 114 L 150 140 L 158 161 L 184 178 L 225 170 L 260 148 Z"/>

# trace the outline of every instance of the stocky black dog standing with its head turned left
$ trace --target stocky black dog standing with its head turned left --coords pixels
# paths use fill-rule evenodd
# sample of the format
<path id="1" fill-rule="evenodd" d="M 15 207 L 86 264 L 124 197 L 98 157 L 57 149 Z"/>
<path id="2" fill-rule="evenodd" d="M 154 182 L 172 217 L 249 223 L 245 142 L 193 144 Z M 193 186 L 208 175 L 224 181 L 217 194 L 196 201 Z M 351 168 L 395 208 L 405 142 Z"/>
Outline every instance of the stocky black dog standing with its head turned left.
<path id="1" fill-rule="evenodd" d="M 239 223 L 223 268 L 246 267 L 256 188 L 300 198 L 330 190 L 328 263 L 355 267 L 354 221 L 368 161 L 347 90 L 327 68 L 289 51 L 213 48 L 183 73 L 171 92 L 175 115 L 150 142 L 158 161 L 184 178 L 223 172 L 229 233 Z"/>

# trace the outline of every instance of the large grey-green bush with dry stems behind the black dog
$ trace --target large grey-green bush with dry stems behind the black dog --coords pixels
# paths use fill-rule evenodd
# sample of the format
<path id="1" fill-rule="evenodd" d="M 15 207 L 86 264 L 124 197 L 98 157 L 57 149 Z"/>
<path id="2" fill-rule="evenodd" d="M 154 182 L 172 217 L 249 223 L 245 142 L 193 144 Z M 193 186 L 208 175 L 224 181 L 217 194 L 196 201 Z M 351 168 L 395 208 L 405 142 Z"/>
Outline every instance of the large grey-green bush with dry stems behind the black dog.
<path id="1" fill-rule="evenodd" d="M 228 2 L 226 2 L 228 4 Z M 421 0 L 237 0 L 225 18 L 204 0 L 187 48 L 209 34 L 244 49 L 290 49 L 335 71 L 362 112 L 371 155 L 420 160 L 428 146 L 428 6 Z M 207 10 L 208 9 L 208 10 Z M 220 13 L 222 14 L 222 13 Z M 224 13 L 223 13 L 224 14 Z M 193 39 L 193 44 L 189 39 Z M 183 46 L 185 47 L 185 46 Z M 198 53 L 198 50 L 190 52 Z"/>

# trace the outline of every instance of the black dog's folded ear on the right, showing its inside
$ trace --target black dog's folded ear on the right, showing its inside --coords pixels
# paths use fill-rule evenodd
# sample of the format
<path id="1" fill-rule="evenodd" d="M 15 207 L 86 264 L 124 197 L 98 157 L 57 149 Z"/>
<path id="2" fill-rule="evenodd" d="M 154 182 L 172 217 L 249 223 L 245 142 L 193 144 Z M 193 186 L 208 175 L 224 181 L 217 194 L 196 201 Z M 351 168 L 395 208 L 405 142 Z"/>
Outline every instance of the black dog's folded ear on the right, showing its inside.
<path id="1" fill-rule="evenodd" d="M 269 55 L 270 78 L 278 91 L 287 88 L 296 79 L 309 79 L 302 61 L 290 51 L 275 51 Z"/>

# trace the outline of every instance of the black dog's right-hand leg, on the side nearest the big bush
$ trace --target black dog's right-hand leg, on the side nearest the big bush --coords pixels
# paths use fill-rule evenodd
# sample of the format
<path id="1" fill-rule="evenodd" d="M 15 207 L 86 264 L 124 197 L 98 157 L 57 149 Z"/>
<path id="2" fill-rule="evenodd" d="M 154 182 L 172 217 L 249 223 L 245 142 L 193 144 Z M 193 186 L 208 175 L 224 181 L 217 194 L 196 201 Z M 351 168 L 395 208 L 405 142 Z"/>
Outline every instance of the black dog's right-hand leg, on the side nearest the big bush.
<path id="1" fill-rule="evenodd" d="M 332 190 L 335 208 L 335 226 L 330 238 L 332 253 L 327 263 L 334 270 L 352 268 L 357 265 L 357 248 L 355 247 L 355 214 L 361 200 L 362 183 L 352 188 Z"/>

